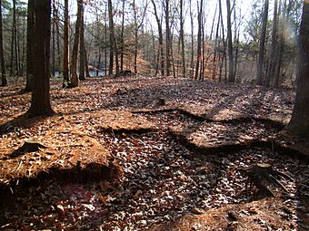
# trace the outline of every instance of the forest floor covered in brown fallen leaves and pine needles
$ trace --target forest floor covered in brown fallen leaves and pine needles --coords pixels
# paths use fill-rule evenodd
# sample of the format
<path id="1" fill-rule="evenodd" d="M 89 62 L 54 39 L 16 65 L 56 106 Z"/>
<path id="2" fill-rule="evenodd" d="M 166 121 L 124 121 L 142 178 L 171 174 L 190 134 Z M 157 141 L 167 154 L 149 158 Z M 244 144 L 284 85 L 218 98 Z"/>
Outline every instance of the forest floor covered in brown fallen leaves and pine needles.
<path id="1" fill-rule="evenodd" d="M 0 89 L 1 230 L 309 229 L 308 140 L 283 130 L 293 90 L 53 79 L 55 115 L 26 119 L 31 94 L 10 83 Z M 265 194 L 244 174 L 258 163 L 291 178 L 261 178 Z"/>

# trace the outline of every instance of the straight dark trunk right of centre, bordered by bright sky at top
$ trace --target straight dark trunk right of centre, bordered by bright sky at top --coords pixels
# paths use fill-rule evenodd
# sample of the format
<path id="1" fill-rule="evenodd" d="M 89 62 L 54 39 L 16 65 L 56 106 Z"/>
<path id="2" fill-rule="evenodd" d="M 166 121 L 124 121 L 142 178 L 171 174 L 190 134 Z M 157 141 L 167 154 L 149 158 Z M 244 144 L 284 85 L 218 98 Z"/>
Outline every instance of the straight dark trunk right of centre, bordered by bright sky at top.
<path id="1" fill-rule="evenodd" d="M 231 2 L 226 0 L 227 8 L 227 52 L 228 52 L 228 82 L 234 82 L 234 54 L 233 54 L 233 41 L 232 41 L 232 21 L 231 21 Z"/>

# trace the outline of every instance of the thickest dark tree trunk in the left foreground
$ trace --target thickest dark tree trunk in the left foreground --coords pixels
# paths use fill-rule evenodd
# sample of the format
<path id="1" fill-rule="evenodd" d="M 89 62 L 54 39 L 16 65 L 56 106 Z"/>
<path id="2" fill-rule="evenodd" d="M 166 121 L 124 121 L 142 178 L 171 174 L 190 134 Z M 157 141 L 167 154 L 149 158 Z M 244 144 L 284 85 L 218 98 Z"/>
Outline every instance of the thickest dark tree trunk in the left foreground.
<path id="1" fill-rule="evenodd" d="M 27 112 L 29 117 L 51 115 L 50 104 L 50 35 L 51 35 L 51 1 L 34 0 L 34 33 L 35 41 L 32 60 L 35 60 L 34 88 L 31 107 Z M 31 31 L 28 31 L 31 33 Z"/>

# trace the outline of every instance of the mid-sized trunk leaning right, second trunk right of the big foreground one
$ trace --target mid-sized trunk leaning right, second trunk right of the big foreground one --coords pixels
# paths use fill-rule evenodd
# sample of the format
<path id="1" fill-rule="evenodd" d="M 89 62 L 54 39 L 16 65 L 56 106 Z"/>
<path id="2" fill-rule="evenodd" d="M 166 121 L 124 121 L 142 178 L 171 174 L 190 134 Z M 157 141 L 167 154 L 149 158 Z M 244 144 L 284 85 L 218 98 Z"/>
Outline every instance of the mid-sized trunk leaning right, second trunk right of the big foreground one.
<path id="1" fill-rule="evenodd" d="M 81 18 L 82 18 L 83 1 L 77 0 L 77 19 L 75 25 L 75 40 L 72 51 L 72 64 L 71 64 L 71 84 L 70 87 L 78 86 L 78 75 L 77 75 L 77 59 L 78 59 L 78 46 L 80 38 Z"/>

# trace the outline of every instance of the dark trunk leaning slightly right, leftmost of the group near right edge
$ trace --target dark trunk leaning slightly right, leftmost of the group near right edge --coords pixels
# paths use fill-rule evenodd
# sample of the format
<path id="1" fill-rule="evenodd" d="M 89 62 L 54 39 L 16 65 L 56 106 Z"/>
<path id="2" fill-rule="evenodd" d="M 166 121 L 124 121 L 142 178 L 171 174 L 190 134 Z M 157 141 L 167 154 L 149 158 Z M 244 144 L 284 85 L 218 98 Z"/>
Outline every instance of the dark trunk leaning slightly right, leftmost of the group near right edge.
<path id="1" fill-rule="evenodd" d="M 257 63 L 257 75 L 256 75 L 257 85 L 263 84 L 264 50 L 265 50 L 267 19 L 268 19 L 268 5 L 269 5 L 269 0 L 264 0 L 262 32 L 261 32 L 261 38 L 260 38 L 260 51 L 259 51 L 259 59 Z"/>

